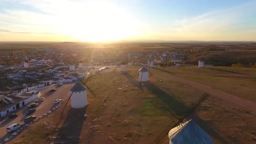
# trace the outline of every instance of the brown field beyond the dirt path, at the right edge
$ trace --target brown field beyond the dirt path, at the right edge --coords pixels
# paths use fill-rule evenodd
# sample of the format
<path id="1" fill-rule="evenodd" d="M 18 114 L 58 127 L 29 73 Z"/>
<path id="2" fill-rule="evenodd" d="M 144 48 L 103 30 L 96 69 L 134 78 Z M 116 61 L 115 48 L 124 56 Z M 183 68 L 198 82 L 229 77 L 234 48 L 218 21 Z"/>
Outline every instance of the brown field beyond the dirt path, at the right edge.
<path id="1" fill-rule="evenodd" d="M 161 68 L 184 79 L 206 84 L 223 92 L 256 102 L 256 69 L 197 66 Z"/>

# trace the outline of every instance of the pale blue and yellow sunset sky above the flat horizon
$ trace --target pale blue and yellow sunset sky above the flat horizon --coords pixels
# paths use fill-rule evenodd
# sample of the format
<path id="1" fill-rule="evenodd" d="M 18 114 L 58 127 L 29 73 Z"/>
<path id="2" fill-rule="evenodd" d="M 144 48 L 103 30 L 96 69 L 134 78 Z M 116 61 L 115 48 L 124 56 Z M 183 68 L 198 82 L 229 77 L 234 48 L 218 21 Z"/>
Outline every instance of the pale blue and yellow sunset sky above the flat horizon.
<path id="1" fill-rule="evenodd" d="M 0 0 L 0 41 L 256 40 L 256 0 Z"/>

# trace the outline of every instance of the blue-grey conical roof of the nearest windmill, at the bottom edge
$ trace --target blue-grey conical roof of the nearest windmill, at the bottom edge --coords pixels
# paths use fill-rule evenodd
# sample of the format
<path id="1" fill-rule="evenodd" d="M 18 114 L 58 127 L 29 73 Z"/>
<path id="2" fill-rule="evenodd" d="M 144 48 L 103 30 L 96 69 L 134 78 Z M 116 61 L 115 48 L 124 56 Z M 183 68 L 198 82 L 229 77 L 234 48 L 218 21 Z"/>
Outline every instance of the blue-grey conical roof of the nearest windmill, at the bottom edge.
<path id="1" fill-rule="evenodd" d="M 172 128 L 168 137 L 170 144 L 213 144 L 211 137 L 193 120 Z"/>

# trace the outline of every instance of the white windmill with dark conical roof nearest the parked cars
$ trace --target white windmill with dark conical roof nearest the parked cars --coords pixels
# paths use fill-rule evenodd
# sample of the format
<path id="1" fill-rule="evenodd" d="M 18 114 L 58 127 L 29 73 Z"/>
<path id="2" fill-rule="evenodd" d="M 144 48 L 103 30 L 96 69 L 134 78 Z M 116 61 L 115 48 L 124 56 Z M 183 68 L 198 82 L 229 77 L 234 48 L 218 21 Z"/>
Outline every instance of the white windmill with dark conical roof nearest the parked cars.
<path id="1" fill-rule="evenodd" d="M 84 108 L 87 105 L 87 89 L 77 82 L 71 89 L 71 108 Z"/>

